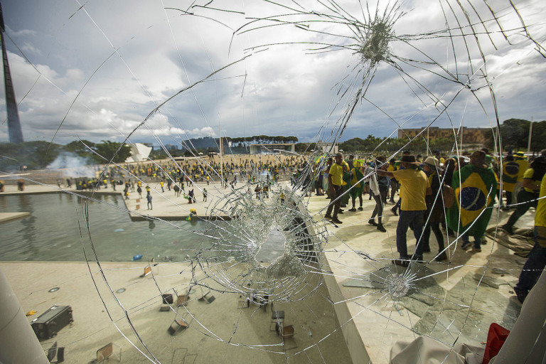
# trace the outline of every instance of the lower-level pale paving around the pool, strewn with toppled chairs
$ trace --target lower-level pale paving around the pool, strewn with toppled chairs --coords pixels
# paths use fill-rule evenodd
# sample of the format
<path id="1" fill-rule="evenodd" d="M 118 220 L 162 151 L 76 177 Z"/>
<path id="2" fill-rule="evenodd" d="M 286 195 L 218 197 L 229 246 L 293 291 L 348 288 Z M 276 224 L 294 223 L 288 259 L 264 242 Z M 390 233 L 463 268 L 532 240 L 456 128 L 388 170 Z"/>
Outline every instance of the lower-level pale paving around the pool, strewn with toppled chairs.
<path id="1" fill-rule="evenodd" d="M 18 193 L 15 188 L 7 187 L 4 194 Z M 214 194 L 218 191 L 213 188 L 209 191 L 213 193 L 209 204 L 216 203 L 218 198 Z M 35 185 L 26 186 L 24 191 L 57 192 L 57 188 Z M 209 206 L 190 205 L 184 198 L 176 200 L 181 205 L 173 205 L 173 191 L 152 193 L 154 209 L 141 211 L 157 218 L 185 218 L 189 207 L 198 208 L 199 214 L 203 214 Z M 132 196 L 126 200 L 129 209 L 136 203 Z M 149 363 L 146 356 L 152 358 L 151 355 L 161 363 L 350 362 L 336 312 L 327 299 L 326 284 L 320 283 L 320 275 L 310 276 L 290 304 L 277 303 L 277 309 L 285 313 L 284 324 L 295 328 L 294 338 L 287 338 L 284 346 L 274 331 L 271 304 L 242 309 L 240 300 L 244 298 L 222 293 L 220 285 L 206 279 L 200 267 L 190 267 L 188 263 L 152 264 L 151 274 L 141 277 L 146 265 L 146 262 L 90 262 L 89 266 L 85 262 L 0 262 L 23 310 L 36 311 L 28 316 L 29 321 L 55 304 L 72 307 L 74 323 L 60 330 L 55 338 L 41 342 L 44 349 L 54 341 L 65 346 L 66 363 L 89 363 L 96 358 L 96 350 L 109 342 L 115 344 L 116 350 L 122 349 L 124 363 Z M 226 267 L 225 272 L 240 274 L 229 269 Z M 215 300 L 210 304 L 198 300 L 203 292 L 197 287 L 190 292 L 186 306 L 168 307 L 161 303 L 162 292 L 187 294 L 190 282 L 217 288 L 219 291 L 211 292 Z M 49 292 L 54 287 L 60 289 Z M 115 293 L 120 288 L 125 291 Z M 161 307 L 168 311 L 160 311 Z M 171 336 L 167 329 L 175 319 L 185 320 L 189 327 Z"/>

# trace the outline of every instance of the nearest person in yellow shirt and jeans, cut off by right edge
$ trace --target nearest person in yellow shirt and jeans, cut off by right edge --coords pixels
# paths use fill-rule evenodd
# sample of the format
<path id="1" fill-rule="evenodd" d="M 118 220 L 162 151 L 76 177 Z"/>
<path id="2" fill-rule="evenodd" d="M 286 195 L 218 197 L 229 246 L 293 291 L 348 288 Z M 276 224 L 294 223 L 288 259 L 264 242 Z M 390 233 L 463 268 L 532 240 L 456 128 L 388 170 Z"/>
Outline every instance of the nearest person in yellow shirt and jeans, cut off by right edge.
<path id="1" fill-rule="evenodd" d="M 535 246 L 521 269 L 520 279 L 515 285 L 515 295 L 523 303 L 546 267 L 546 175 L 540 183 L 540 194 L 535 213 Z"/>

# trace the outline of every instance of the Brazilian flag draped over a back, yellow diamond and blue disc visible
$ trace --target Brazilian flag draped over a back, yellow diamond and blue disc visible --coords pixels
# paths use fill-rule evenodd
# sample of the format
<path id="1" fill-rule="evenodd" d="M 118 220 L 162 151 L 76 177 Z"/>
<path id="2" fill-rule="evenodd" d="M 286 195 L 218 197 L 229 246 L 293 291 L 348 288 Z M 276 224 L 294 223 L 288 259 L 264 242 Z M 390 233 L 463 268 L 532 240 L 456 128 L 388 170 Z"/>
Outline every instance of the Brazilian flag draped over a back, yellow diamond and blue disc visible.
<path id="1" fill-rule="evenodd" d="M 493 213 L 491 206 L 497 192 L 495 172 L 491 168 L 464 166 L 453 173 L 451 187 L 455 203 L 447 210 L 447 225 L 460 233 L 470 227 L 468 235 L 481 237 Z"/>

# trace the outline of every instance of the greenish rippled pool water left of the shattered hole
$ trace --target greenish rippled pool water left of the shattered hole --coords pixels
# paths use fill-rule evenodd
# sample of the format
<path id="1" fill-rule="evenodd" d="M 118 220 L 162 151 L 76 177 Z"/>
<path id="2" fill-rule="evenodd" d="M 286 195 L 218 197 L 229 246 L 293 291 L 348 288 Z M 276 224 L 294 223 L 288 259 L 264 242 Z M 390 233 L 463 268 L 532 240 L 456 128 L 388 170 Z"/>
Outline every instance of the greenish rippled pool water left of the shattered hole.
<path id="1" fill-rule="evenodd" d="M 31 214 L 0 224 L 0 260 L 85 261 L 85 254 L 95 260 L 91 240 L 101 261 L 126 262 L 142 255 L 143 260 L 175 262 L 211 244 L 200 235 L 207 225 L 203 221 L 134 222 L 121 196 L 95 199 L 87 204 L 87 232 L 82 198 L 68 193 L 0 196 L 0 211 Z"/>

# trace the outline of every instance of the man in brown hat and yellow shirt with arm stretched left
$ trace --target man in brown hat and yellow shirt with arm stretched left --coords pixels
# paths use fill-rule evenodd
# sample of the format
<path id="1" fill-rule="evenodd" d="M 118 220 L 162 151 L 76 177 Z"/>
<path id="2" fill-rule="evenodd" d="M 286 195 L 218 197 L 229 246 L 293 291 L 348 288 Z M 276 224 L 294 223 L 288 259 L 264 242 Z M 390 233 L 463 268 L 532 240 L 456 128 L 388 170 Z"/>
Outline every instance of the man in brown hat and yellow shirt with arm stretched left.
<path id="1" fill-rule="evenodd" d="M 412 259 L 423 259 L 423 248 L 421 235 L 424 225 L 424 213 L 427 210 L 425 196 L 431 194 L 429 179 L 427 175 L 419 170 L 415 156 L 407 154 L 402 156 L 400 171 L 382 171 L 378 169 L 379 176 L 394 177 L 400 182 L 400 218 L 396 228 L 396 247 L 400 259 L 393 259 L 392 262 L 407 267 L 410 263 L 410 256 L 407 254 L 407 229 L 413 226 L 413 234 L 417 239 L 417 246 Z"/>

